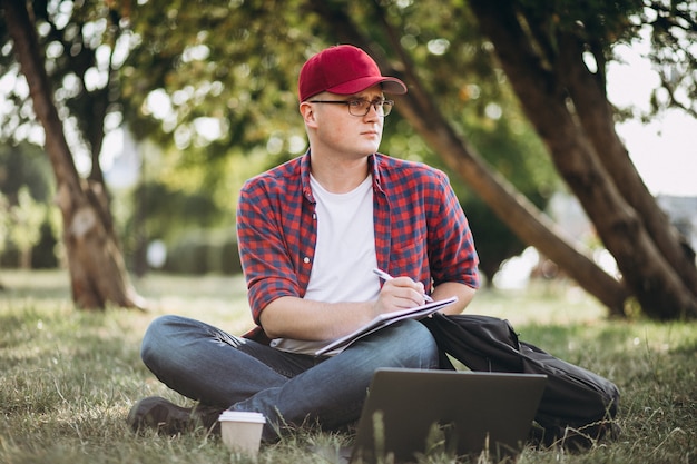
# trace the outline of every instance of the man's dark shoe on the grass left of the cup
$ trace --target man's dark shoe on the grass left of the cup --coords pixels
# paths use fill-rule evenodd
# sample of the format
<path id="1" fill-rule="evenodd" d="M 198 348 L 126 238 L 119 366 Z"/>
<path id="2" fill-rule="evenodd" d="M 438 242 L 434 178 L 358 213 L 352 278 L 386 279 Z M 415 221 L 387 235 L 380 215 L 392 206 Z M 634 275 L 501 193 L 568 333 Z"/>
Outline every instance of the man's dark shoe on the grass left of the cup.
<path id="1" fill-rule="evenodd" d="M 159 396 L 148 396 L 136 403 L 128 413 L 128 425 L 134 432 L 155 428 L 167 435 L 190 432 L 203 425 L 212 432 L 219 432 L 218 416 L 222 408 L 207 405 L 181 407 Z"/>

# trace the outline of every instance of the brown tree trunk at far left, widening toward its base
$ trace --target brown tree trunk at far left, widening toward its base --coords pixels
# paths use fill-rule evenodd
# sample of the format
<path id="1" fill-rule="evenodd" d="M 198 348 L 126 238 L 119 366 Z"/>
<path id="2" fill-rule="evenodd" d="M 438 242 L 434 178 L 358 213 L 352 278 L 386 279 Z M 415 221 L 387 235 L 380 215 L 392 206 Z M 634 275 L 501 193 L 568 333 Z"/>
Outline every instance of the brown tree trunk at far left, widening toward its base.
<path id="1" fill-rule="evenodd" d="M 81 181 L 72 161 L 27 3 L 0 1 L 17 59 L 29 85 L 35 113 L 46 132 L 45 149 L 56 176 L 57 203 L 63 219 L 72 299 L 80 308 L 105 308 L 108 303 L 145 308 L 144 299 L 128 280 L 108 221 L 110 214 L 104 188 L 98 182 Z"/>

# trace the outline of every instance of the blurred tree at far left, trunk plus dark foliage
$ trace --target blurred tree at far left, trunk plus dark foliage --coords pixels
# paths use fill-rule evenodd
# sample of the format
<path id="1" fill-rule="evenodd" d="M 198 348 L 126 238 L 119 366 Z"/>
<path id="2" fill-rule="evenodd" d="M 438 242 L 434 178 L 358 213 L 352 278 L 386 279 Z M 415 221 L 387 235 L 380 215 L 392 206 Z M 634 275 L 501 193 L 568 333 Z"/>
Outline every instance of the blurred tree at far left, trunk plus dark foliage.
<path id="1" fill-rule="evenodd" d="M 119 24 L 102 3 L 73 9 L 63 1 L 2 0 L 0 6 L 7 99 L 18 109 L 7 128 L 12 139 L 39 141 L 50 160 L 72 299 L 89 309 L 108 303 L 143 308 L 126 272 L 99 162 Z M 35 130 L 32 116 L 42 130 Z M 81 151 L 91 161 L 85 178 L 77 166 Z"/>

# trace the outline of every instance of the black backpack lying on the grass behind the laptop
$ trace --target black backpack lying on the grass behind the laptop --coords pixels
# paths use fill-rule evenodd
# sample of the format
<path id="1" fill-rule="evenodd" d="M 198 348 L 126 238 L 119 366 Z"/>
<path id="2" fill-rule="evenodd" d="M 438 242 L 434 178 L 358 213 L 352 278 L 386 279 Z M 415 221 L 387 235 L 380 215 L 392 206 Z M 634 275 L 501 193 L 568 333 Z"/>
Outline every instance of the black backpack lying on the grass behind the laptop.
<path id="1" fill-rule="evenodd" d="M 598 438 L 617 434 L 617 386 L 519 340 L 508 320 L 434 313 L 421 322 L 438 343 L 441 368 L 454 369 L 450 355 L 471 371 L 547 375 L 532 427 L 531 438 L 536 442 L 582 448 Z"/>

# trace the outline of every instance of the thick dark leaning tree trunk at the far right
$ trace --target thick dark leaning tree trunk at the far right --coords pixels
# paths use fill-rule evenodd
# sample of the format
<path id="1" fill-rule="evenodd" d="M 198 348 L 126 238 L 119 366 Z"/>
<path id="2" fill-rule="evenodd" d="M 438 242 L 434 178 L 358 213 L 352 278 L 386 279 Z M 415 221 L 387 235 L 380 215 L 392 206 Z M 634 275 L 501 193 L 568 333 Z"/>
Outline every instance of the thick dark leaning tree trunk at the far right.
<path id="1" fill-rule="evenodd" d="M 470 6 L 480 28 L 493 42 L 526 113 L 549 147 L 558 171 L 615 256 L 627 286 L 645 313 L 657 319 L 697 316 L 697 299 L 693 292 L 656 247 L 639 213 L 625 199 L 620 186 L 616 185 L 600 161 L 606 154 L 602 151 L 600 156 L 596 147 L 607 147 L 600 141 L 590 141 L 583 127 L 577 124 L 578 116 L 569 109 L 568 89 L 558 78 L 568 71 L 557 71 L 562 67 L 557 60 L 550 62 L 550 57 L 537 55 L 536 50 L 541 47 L 536 47 L 523 32 L 510 2 L 470 0 Z M 527 26 L 534 27 L 530 22 Z M 587 95 L 580 88 L 576 88 L 575 92 L 580 105 L 582 99 L 592 98 L 592 92 Z M 606 99 L 603 105 L 608 105 Z M 610 124 L 605 119 L 605 125 Z M 608 129 L 605 130 L 607 132 Z M 610 154 L 612 156 L 617 157 L 617 154 Z M 627 159 L 622 164 L 625 167 L 617 168 L 618 176 L 620 171 L 625 172 L 629 162 Z M 621 188 L 629 192 L 628 197 L 635 197 L 632 188 L 637 188 L 636 182 L 621 185 Z M 661 227 L 670 226 L 664 221 Z M 661 234 L 664 240 L 669 236 Z"/>

